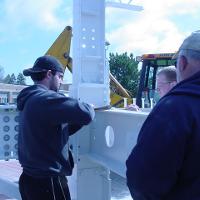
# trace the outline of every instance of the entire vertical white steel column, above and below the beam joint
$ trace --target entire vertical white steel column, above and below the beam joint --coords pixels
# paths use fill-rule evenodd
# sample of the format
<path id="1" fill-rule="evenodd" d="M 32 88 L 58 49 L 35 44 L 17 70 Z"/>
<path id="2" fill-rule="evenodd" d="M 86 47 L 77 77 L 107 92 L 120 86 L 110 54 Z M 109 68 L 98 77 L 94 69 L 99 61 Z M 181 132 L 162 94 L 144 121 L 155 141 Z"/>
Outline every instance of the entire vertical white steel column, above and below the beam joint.
<path id="1" fill-rule="evenodd" d="M 97 107 L 110 104 L 109 68 L 105 65 L 104 0 L 73 0 L 72 74 L 71 96 Z M 90 126 L 85 127 L 70 140 L 76 163 L 72 198 L 109 200 L 109 170 L 85 156 L 90 149 L 90 133 Z"/>

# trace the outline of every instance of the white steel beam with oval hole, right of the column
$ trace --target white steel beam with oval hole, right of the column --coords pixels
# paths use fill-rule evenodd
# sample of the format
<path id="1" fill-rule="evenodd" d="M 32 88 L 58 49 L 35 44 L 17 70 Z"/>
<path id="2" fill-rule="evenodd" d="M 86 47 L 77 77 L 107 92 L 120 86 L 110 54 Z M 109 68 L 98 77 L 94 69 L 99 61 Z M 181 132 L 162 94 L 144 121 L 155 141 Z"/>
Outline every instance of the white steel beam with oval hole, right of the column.
<path id="1" fill-rule="evenodd" d="M 136 144 L 147 115 L 148 113 L 126 110 L 97 112 L 91 125 L 88 156 L 125 177 L 126 159 Z"/>

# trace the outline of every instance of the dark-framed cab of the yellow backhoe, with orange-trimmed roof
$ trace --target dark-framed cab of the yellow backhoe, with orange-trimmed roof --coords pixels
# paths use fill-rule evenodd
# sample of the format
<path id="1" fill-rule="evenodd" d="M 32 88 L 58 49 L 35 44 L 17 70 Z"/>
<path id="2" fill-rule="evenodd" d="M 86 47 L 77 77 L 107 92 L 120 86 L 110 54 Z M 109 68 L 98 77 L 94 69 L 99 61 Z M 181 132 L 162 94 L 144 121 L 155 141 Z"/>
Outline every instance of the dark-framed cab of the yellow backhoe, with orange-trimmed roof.
<path id="1" fill-rule="evenodd" d="M 142 96 L 146 91 L 148 101 L 154 98 L 156 89 L 156 74 L 159 68 L 175 65 L 175 60 L 172 60 L 174 53 L 160 53 L 160 54 L 144 54 L 137 57 L 136 60 L 142 62 L 142 69 L 140 74 L 140 82 L 136 97 L 136 104 L 142 106 Z"/>

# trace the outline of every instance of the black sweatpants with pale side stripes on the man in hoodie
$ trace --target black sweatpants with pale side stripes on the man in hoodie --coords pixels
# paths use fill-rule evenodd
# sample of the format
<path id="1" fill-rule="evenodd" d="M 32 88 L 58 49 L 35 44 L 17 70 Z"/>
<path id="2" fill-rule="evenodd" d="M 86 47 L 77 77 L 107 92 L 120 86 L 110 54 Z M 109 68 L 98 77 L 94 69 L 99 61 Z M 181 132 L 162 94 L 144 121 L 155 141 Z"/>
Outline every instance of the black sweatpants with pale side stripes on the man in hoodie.
<path id="1" fill-rule="evenodd" d="M 22 200 L 71 200 L 67 178 L 34 178 L 24 172 L 19 179 Z"/>

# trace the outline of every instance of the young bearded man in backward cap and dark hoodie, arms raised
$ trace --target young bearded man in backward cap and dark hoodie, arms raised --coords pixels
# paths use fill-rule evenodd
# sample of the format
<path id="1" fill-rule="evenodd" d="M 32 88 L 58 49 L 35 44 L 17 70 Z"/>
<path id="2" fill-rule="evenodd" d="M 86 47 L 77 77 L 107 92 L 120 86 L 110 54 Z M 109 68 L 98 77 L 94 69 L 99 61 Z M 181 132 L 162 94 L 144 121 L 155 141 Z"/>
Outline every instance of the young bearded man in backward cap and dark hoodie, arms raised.
<path id="1" fill-rule="evenodd" d="M 49 55 L 39 57 L 32 68 L 23 71 L 34 85 L 17 98 L 22 200 L 71 199 L 66 179 L 73 168 L 68 139 L 92 121 L 94 109 L 58 93 L 63 73 L 62 64 Z"/>

